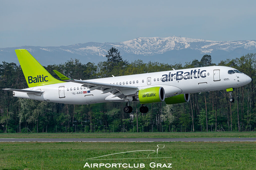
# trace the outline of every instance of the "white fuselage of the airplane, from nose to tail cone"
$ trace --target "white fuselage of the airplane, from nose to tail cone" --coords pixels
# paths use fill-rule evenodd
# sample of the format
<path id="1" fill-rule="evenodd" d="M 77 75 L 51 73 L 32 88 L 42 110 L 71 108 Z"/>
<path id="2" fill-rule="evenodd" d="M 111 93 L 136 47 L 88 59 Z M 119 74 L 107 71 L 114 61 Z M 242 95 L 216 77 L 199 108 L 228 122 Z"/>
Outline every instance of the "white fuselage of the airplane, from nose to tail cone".
<path id="1" fill-rule="evenodd" d="M 148 87 L 161 86 L 165 90 L 166 98 L 179 94 L 223 90 L 231 87 L 235 88 L 251 82 L 251 78 L 246 74 L 237 72 L 228 74 L 228 70 L 235 69 L 225 66 L 210 66 L 108 77 L 87 81 L 137 86 L 139 90 Z M 89 88 L 83 87 L 81 85 L 82 84 L 80 83 L 74 82 L 43 85 L 26 89 L 44 91 L 44 93 L 29 94 L 14 91 L 14 96 L 68 104 L 91 104 L 109 101 L 127 101 L 120 98 L 113 98 L 110 100 L 108 97 L 112 95 L 110 92 L 102 94 L 101 90 L 90 90 Z"/>

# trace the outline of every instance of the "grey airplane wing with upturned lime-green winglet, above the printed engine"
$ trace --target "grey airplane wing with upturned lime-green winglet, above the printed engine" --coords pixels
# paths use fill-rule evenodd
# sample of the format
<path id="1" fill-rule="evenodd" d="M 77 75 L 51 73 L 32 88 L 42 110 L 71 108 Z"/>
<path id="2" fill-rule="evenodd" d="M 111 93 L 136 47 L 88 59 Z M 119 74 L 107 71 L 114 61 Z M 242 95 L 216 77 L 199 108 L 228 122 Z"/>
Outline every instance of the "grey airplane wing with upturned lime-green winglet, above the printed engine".
<path id="1" fill-rule="evenodd" d="M 90 90 L 101 90 L 101 94 L 104 93 L 112 93 L 114 97 L 119 97 L 120 99 L 125 98 L 126 96 L 134 96 L 138 91 L 137 86 L 126 86 L 126 85 L 118 85 L 118 84 L 107 84 L 107 83 L 99 83 L 99 82 L 91 82 L 85 80 L 75 80 L 69 79 L 65 75 L 60 72 L 54 70 L 54 72 L 60 77 L 61 80 L 67 82 L 75 82 L 83 84 L 83 87 L 88 87 Z"/>

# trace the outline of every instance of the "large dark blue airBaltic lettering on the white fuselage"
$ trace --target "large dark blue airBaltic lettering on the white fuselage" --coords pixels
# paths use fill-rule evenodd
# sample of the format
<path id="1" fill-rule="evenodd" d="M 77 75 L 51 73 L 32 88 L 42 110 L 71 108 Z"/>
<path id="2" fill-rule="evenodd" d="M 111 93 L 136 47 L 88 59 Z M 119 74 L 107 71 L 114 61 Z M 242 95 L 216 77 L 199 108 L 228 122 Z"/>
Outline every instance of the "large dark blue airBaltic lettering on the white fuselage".
<path id="1" fill-rule="evenodd" d="M 173 81 L 173 77 L 176 77 L 176 80 L 187 80 L 187 79 L 197 79 L 199 77 L 205 78 L 206 77 L 206 70 L 202 70 L 200 71 L 200 69 L 198 70 L 191 70 L 190 72 L 183 72 L 183 71 L 177 71 L 174 74 L 169 73 L 162 75 L 162 82 L 167 82 L 167 81 Z"/>

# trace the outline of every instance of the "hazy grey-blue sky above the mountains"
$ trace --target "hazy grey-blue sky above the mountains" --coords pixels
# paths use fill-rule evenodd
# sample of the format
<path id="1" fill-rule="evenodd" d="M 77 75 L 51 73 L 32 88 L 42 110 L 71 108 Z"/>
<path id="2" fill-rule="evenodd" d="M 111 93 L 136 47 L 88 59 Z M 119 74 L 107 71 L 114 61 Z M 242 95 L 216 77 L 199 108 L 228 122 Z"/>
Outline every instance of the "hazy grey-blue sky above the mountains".
<path id="1" fill-rule="evenodd" d="M 256 1 L 0 1 L 0 48 L 137 37 L 256 40 Z"/>

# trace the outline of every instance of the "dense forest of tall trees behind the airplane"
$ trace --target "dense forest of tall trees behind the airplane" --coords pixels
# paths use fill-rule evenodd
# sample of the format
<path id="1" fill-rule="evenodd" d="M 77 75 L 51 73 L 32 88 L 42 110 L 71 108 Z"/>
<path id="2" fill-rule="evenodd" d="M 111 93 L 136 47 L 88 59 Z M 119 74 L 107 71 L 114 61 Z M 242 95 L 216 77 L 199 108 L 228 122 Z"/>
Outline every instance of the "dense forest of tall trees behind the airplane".
<path id="1" fill-rule="evenodd" d="M 214 57 L 214 56 L 212 56 Z M 256 54 L 224 59 L 212 63 L 210 55 L 201 60 L 181 63 L 123 60 L 116 48 L 106 54 L 106 61 L 81 63 L 70 59 L 65 63 L 48 65 L 46 70 L 59 79 L 53 70 L 72 79 L 97 79 L 158 71 L 205 66 L 228 66 L 251 77 L 251 83 L 235 88 L 234 102 L 229 102 L 226 90 L 190 94 L 187 103 L 167 105 L 165 102 L 147 104 L 148 113 L 140 113 L 139 102 L 131 102 L 131 113 L 125 113 L 125 102 L 75 105 L 36 101 L 13 97 L 4 88 L 23 89 L 27 83 L 16 63 L 0 64 L 0 133 L 44 132 L 209 132 L 255 131 L 256 125 Z"/>

